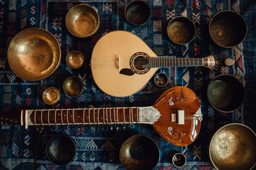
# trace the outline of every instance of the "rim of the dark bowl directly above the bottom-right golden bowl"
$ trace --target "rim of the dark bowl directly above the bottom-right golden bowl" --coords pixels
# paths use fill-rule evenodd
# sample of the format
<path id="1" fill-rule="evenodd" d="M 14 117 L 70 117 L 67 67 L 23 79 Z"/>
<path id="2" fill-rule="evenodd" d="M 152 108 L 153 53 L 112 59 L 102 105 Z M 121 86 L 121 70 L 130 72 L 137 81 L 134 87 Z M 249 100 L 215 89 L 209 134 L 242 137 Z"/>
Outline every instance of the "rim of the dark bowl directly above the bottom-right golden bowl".
<path id="1" fill-rule="evenodd" d="M 209 89 L 209 85 L 216 80 L 216 78 L 219 78 L 220 76 L 232 76 L 234 77 L 236 80 L 238 80 L 239 83 L 241 83 L 241 85 L 243 86 L 243 91 L 244 91 L 244 84 L 241 80 L 239 80 L 239 78 L 237 78 L 236 76 L 232 75 L 232 74 L 220 74 L 218 76 L 214 76 L 214 78 L 212 78 L 212 80 L 210 81 L 210 83 L 207 85 L 207 92 L 206 92 L 206 96 L 207 96 L 207 100 L 209 101 L 209 103 L 211 104 L 212 108 L 218 110 L 218 111 L 221 111 L 223 113 L 230 113 L 230 112 L 233 112 L 233 111 L 236 111 L 238 108 L 241 107 L 241 104 L 243 104 L 244 102 L 244 96 L 245 96 L 245 93 L 243 95 L 243 100 L 241 100 L 241 104 L 239 104 L 239 106 L 237 106 L 237 108 L 235 108 L 234 110 L 231 110 L 231 111 L 223 111 L 223 110 L 220 110 L 218 108 L 216 108 L 215 106 L 213 106 L 213 104 L 211 103 L 211 101 L 209 100 L 209 97 L 208 97 L 208 89 Z"/>

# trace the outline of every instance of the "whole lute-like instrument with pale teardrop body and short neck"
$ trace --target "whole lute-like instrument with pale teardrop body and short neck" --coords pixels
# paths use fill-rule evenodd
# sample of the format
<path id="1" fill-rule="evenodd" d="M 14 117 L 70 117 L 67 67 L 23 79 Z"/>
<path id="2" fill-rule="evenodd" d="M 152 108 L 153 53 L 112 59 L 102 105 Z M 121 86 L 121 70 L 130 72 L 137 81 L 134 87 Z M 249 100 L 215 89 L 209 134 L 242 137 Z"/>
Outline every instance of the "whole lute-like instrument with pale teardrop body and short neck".
<path id="1" fill-rule="evenodd" d="M 127 31 L 113 31 L 102 36 L 93 48 L 93 80 L 104 93 L 127 97 L 138 92 L 160 67 L 204 66 L 214 69 L 218 57 L 158 57 L 138 36 Z"/>

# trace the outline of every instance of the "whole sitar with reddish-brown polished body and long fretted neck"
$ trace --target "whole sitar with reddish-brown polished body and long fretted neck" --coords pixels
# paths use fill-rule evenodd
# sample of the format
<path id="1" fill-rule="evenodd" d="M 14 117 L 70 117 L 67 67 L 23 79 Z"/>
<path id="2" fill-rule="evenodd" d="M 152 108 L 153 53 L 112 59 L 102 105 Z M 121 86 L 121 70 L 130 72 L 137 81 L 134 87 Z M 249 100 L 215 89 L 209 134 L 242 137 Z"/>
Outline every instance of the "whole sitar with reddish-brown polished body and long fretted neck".
<path id="1" fill-rule="evenodd" d="M 1 114 L 1 120 L 10 115 Z M 17 119 L 17 118 L 16 118 Z M 13 120 L 12 121 L 17 121 Z M 187 87 L 166 90 L 152 106 L 117 108 L 72 108 L 50 110 L 22 110 L 20 124 L 49 125 L 108 125 L 150 124 L 169 143 L 186 146 L 197 138 L 202 122 L 200 103 Z"/>

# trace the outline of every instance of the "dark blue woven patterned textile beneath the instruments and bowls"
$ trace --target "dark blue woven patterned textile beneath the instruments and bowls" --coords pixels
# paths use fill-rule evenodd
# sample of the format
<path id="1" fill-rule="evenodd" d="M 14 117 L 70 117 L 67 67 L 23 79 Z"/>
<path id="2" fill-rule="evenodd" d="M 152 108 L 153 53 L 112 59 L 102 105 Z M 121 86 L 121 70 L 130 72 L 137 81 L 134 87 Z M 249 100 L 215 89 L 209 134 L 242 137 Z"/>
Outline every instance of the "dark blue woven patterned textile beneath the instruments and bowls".
<path id="1" fill-rule="evenodd" d="M 155 169 L 176 169 L 170 163 L 170 155 L 182 152 L 186 155 L 184 169 L 214 169 L 209 157 L 208 146 L 212 134 L 221 125 L 232 122 L 246 124 L 255 131 L 256 90 L 256 2 L 254 0 L 145 0 L 152 11 L 147 24 L 133 26 L 124 18 L 127 0 L 0 0 L 0 111 L 13 108 L 88 108 L 110 106 L 150 106 L 164 90 L 182 85 L 194 90 L 202 106 L 204 115 L 202 128 L 196 141 L 189 146 L 174 146 L 162 139 L 150 125 L 126 125 L 125 130 L 111 131 L 109 127 L 62 126 L 29 127 L 1 125 L 0 129 L 0 169 L 124 169 L 119 160 L 119 149 L 125 139 L 133 134 L 146 134 L 156 141 L 160 150 L 159 164 Z M 100 17 L 99 31 L 91 38 L 80 39 L 72 36 L 65 26 L 65 16 L 72 6 L 86 3 L 95 8 Z M 221 48 L 209 39 L 208 23 L 223 10 L 241 13 L 248 24 L 248 34 L 240 45 Z M 196 38 L 188 45 L 176 45 L 166 36 L 166 25 L 175 16 L 185 16 L 196 25 Z M 61 45 L 61 63 L 58 69 L 41 81 L 26 81 L 17 77 L 10 69 L 7 49 L 18 32 L 29 27 L 42 27 L 51 32 Z M 236 60 L 230 67 L 220 71 L 210 71 L 204 67 L 172 67 L 159 71 L 168 75 L 166 87 L 157 87 L 150 80 L 143 89 L 129 97 L 111 97 L 104 94 L 93 83 L 90 71 L 90 57 L 93 46 L 104 34 L 125 30 L 139 36 L 154 52 L 161 56 L 206 57 L 210 53 L 221 54 Z M 68 52 L 78 50 L 85 56 L 80 69 L 70 69 L 65 63 Z M 214 110 L 206 99 L 205 89 L 211 78 L 218 74 L 234 74 L 246 85 L 244 104 L 234 113 L 220 113 Z M 63 92 L 62 85 L 68 76 L 79 76 L 84 83 L 83 94 L 70 98 Z M 49 106 L 42 101 L 42 92 L 47 87 L 60 89 L 60 102 Z M 253 115 L 254 113 L 254 115 Z M 77 146 L 74 160 L 66 166 L 51 164 L 45 157 L 45 145 L 54 134 L 70 135 Z"/>

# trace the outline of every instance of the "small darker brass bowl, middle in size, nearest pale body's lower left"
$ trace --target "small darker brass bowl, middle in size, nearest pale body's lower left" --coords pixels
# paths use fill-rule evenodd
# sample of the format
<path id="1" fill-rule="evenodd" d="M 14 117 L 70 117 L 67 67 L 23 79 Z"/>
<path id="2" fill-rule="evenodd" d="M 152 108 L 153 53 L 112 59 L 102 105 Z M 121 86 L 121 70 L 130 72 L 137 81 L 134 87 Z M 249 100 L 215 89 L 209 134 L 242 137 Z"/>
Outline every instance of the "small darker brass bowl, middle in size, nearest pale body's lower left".
<path id="1" fill-rule="evenodd" d="M 70 76 L 64 81 L 63 90 L 67 96 L 77 97 L 84 90 L 83 81 L 77 76 Z"/>

